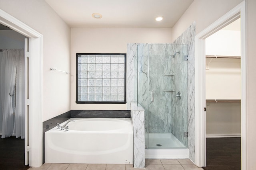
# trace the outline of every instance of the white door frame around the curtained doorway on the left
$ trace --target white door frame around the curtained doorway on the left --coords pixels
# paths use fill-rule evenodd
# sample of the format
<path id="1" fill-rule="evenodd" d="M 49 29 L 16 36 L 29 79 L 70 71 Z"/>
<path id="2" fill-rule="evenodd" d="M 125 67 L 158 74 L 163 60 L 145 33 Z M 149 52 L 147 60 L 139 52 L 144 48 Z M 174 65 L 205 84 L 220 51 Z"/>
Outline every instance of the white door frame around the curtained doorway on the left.
<path id="1" fill-rule="evenodd" d="M 42 165 L 42 47 L 43 36 L 0 9 L 0 23 L 29 38 L 29 166 Z"/>

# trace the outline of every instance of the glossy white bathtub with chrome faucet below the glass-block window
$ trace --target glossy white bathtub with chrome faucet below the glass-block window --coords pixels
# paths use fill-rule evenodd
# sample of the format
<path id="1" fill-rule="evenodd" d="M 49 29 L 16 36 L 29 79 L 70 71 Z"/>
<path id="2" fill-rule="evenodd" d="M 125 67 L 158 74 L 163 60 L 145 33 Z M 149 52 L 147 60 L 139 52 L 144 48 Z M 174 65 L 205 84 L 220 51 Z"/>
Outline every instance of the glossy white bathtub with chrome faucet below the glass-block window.
<path id="1" fill-rule="evenodd" d="M 54 127 L 45 133 L 46 163 L 132 164 L 130 118 L 71 119 L 68 131 Z"/>

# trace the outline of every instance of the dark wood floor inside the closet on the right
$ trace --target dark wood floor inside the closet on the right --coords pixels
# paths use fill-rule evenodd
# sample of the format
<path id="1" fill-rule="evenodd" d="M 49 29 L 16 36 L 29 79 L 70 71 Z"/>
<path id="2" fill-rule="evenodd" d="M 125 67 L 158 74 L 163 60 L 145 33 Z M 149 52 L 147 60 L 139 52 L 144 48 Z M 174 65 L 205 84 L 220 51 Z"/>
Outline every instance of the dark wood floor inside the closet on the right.
<path id="1" fill-rule="evenodd" d="M 204 170 L 241 170 L 241 138 L 206 138 Z"/>

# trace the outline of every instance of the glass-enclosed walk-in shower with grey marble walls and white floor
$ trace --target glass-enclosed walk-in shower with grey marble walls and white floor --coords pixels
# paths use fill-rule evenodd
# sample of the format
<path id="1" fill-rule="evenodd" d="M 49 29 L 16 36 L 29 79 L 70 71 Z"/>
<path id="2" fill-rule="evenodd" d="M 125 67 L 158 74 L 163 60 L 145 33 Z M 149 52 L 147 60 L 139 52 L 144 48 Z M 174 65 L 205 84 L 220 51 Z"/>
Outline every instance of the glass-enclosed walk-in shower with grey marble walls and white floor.
<path id="1" fill-rule="evenodd" d="M 145 149 L 188 147 L 187 49 L 138 45 L 137 102 L 145 109 Z"/>

